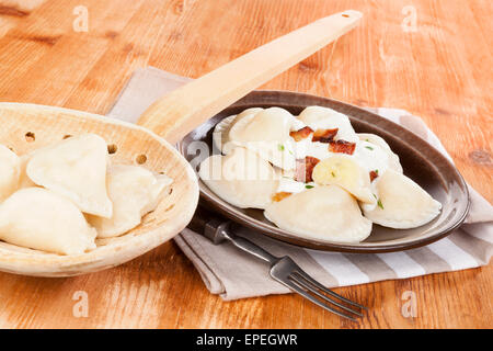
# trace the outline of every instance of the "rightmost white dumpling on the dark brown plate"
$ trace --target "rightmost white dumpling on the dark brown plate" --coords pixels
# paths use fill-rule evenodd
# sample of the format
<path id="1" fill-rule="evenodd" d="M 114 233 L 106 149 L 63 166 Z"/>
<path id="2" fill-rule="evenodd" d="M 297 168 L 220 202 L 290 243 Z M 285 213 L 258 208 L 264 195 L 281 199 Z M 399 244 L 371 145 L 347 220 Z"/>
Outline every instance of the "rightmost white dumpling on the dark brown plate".
<path id="1" fill-rule="evenodd" d="M 385 227 L 405 229 L 422 226 L 435 218 L 442 204 L 410 178 L 393 170 L 387 170 L 376 179 L 378 206 L 368 211 L 363 206 L 365 217 Z"/>

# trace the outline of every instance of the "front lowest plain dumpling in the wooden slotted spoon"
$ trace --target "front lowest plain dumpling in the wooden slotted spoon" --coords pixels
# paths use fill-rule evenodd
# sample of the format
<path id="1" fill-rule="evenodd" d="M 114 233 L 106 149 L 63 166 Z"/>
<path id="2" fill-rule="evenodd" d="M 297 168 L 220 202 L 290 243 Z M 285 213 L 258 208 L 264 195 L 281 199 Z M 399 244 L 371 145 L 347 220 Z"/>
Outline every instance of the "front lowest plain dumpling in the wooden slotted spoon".
<path id="1" fill-rule="evenodd" d="M 22 189 L 0 205 L 0 239 L 60 254 L 95 248 L 96 231 L 70 200 L 42 188 Z"/>

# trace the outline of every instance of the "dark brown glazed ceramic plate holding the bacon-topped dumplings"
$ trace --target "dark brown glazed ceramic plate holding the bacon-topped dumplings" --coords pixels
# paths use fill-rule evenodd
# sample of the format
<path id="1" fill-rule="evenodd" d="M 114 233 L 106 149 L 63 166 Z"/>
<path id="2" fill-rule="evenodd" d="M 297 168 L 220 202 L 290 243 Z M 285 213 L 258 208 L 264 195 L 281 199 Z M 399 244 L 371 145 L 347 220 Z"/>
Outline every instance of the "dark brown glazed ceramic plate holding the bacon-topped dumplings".
<path id="1" fill-rule="evenodd" d="M 254 91 L 233 105 L 197 127 L 179 144 L 180 151 L 193 167 L 207 157 L 197 151 L 197 144 L 206 141 L 213 150 L 214 126 L 222 118 L 238 114 L 249 107 L 279 106 L 298 115 L 306 106 L 320 105 L 346 114 L 357 133 L 374 133 L 387 140 L 399 155 L 404 174 L 413 179 L 443 205 L 442 213 L 433 222 L 413 229 L 391 229 L 374 225 L 371 235 L 359 244 L 339 244 L 296 236 L 268 222 L 260 210 L 242 210 L 228 204 L 213 193 L 202 181 L 200 201 L 238 224 L 253 228 L 275 239 L 296 246 L 328 251 L 388 252 L 424 246 L 445 237 L 457 228 L 469 211 L 469 195 L 466 182 L 458 170 L 433 146 L 414 133 L 377 114 L 325 98 L 287 92 Z M 215 150 L 218 152 L 218 150 Z"/>

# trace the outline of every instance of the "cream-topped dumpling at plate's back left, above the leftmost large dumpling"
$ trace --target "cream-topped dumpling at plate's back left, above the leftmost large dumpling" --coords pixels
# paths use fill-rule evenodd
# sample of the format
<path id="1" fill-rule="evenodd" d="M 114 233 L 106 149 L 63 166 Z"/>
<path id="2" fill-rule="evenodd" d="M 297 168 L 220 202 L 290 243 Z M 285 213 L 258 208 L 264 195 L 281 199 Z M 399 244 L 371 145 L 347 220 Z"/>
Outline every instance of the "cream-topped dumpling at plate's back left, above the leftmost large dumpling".
<path id="1" fill-rule="evenodd" d="M 226 154 L 237 146 L 248 148 L 283 169 L 296 167 L 295 144 L 289 132 L 296 117 L 284 109 L 271 107 L 236 121 L 229 131 Z"/>

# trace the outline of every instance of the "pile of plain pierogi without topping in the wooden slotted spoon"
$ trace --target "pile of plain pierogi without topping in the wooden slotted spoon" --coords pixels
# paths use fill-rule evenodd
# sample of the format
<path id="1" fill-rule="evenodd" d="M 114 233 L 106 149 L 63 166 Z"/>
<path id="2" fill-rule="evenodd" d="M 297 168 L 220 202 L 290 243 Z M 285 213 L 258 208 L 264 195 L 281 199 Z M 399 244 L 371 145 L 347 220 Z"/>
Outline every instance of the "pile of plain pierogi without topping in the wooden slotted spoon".
<path id="1" fill-rule="evenodd" d="M 84 134 L 19 157 L 0 145 L 0 240 L 58 254 L 124 235 L 172 183 L 140 166 L 108 162 L 106 141 Z"/>

